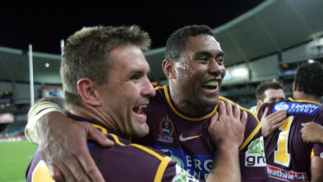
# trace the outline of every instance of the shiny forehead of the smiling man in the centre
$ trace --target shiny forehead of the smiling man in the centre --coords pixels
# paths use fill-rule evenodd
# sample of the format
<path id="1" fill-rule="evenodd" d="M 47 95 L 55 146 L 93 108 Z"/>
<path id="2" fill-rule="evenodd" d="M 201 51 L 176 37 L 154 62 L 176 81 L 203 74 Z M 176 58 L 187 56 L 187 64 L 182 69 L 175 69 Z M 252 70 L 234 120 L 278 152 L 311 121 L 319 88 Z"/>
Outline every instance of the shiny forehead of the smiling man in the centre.
<path id="1" fill-rule="evenodd" d="M 188 37 L 187 45 L 185 51 L 191 53 L 197 53 L 200 51 L 208 51 L 208 52 L 222 52 L 219 42 L 215 40 L 215 38 L 209 34 L 199 34 L 195 37 Z"/>

